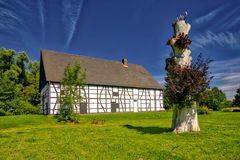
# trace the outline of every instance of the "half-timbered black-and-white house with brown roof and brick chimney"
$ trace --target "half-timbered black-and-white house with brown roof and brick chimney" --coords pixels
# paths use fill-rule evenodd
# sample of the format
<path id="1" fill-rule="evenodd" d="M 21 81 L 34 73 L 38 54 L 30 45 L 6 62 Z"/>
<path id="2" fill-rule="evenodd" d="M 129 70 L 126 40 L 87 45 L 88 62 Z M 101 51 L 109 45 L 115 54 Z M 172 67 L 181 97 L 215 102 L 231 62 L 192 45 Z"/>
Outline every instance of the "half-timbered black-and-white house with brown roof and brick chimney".
<path id="1" fill-rule="evenodd" d="M 59 113 L 60 80 L 67 64 L 78 61 L 86 71 L 86 86 L 79 90 L 83 100 L 77 113 L 161 111 L 163 90 L 136 64 L 42 50 L 40 60 L 41 112 Z"/>

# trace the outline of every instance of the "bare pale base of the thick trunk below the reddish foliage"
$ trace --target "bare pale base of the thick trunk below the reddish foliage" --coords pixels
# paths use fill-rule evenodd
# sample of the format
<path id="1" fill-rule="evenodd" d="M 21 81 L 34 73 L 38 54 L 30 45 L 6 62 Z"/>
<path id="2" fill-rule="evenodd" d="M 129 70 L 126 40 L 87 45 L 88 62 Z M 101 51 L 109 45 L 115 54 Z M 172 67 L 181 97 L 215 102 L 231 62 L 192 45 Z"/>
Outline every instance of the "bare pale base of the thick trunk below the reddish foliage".
<path id="1" fill-rule="evenodd" d="M 192 106 L 178 109 L 174 107 L 172 117 L 172 129 L 175 133 L 200 131 L 197 117 L 197 103 Z"/>

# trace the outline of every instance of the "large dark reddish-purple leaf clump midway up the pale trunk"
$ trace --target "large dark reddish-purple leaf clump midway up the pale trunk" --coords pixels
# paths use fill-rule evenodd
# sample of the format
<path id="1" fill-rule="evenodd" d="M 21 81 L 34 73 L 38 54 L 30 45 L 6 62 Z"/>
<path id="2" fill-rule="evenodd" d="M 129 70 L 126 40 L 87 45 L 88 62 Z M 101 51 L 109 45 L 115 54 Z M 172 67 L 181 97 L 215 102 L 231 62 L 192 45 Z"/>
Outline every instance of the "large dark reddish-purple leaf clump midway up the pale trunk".
<path id="1" fill-rule="evenodd" d="M 203 59 L 201 54 L 190 67 L 181 67 L 175 57 L 166 60 L 166 97 L 172 105 L 182 108 L 199 100 L 213 78 L 209 76 L 210 62 L 210 59 Z"/>

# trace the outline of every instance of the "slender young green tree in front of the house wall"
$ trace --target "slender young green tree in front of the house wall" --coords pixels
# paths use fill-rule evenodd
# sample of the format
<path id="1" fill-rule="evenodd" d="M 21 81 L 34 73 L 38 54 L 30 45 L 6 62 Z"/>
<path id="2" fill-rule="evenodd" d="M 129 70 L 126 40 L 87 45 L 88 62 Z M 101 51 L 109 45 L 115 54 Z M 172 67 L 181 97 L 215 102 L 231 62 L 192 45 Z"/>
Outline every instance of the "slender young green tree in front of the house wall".
<path id="1" fill-rule="evenodd" d="M 79 89 L 84 89 L 85 79 L 85 72 L 81 70 L 78 62 L 75 62 L 73 66 L 68 64 L 64 68 L 64 76 L 60 81 L 61 97 L 58 121 L 79 122 L 78 116 L 74 114 L 74 107 L 82 100 Z"/>

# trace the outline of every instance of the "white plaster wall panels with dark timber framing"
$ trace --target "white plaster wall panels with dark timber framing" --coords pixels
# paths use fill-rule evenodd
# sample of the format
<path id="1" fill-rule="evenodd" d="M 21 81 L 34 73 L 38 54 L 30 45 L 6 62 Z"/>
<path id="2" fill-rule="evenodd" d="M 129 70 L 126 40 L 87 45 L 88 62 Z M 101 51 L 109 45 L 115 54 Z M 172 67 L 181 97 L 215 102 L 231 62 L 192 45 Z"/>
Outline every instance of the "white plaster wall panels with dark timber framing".
<path id="1" fill-rule="evenodd" d="M 42 92 L 44 92 L 44 90 Z M 118 93 L 118 96 L 113 96 L 113 92 Z M 119 108 L 116 109 L 117 112 L 164 110 L 161 90 L 85 86 L 84 91 L 80 90 L 80 93 L 82 97 L 85 97 L 82 102 L 87 103 L 87 113 L 111 112 L 111 102 L 119 104 Z M 59 83 L 51 83 L 49 105 L 50 114 L 57 114 L 59 112 L 59 97 Z M 79 105 L 77 105 L 76 111 L 80 111 Z"/>

